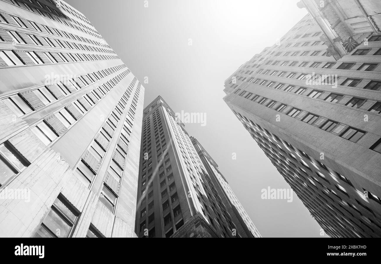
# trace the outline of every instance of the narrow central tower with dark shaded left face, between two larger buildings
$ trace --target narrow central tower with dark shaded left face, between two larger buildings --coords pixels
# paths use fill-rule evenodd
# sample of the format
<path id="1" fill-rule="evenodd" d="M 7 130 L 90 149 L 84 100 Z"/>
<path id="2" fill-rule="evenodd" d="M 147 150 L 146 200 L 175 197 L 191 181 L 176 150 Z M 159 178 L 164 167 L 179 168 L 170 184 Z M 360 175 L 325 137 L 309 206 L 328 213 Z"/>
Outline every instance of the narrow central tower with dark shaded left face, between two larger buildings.
<path id="1" fill-rule="evenodd" d="M 260 237 L 226 181 L 220 183 L 217 165 L 203 161 L 207 153 L 162 97 L 144 108 L 142 126 L 139 237 Z"/>

